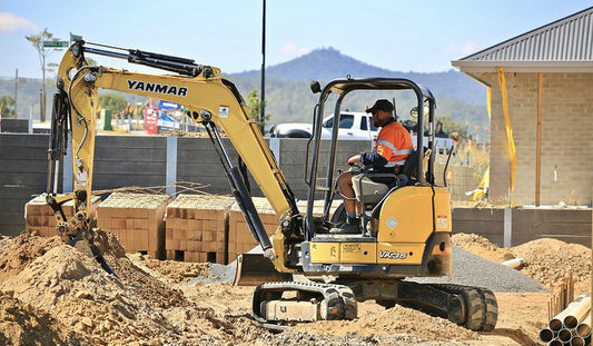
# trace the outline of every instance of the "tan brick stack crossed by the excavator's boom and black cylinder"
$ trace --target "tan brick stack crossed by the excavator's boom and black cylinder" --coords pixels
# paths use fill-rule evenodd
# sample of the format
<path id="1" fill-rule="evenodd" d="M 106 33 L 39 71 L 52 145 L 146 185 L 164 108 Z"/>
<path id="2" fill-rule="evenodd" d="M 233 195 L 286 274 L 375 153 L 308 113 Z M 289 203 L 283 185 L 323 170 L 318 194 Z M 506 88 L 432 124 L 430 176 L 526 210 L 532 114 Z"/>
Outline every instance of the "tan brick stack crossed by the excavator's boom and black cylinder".
<path id="1" fill-rule="evenodd" d="M 279 226 L 276 212 L 266 198 L 254 197 L 253 200 L 266 233 L 271 236 Z M 228 261 L 230 263 L 237 258 L 238 254 L 247 253 L 256 247 L 257 243 L 237 202 L 230 208 L 228 220 Z"/>

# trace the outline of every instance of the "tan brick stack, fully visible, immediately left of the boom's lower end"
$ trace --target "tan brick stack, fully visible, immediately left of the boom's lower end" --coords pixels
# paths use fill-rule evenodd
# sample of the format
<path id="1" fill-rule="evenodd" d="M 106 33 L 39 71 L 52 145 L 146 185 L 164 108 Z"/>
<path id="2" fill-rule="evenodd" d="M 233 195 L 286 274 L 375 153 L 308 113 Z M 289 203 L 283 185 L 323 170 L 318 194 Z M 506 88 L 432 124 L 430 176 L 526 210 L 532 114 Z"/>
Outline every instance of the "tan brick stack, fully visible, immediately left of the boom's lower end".
<path id="1" fill-rule="evenodd" d="M 167 259 L 226 263 L 228 196 L 179 195 L 167 206 Z"/>

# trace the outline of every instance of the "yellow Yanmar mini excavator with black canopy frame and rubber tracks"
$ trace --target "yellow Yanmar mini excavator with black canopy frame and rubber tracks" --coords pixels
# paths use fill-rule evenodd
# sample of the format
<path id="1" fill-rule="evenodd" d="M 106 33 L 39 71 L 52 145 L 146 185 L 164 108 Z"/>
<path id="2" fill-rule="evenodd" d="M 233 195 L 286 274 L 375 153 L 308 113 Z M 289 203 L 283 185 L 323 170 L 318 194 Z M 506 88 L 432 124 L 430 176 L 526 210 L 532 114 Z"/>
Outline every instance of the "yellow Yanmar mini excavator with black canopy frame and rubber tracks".
<path id="1" fill-rule="evenodd" d="M 174 73 L 148 75 L 89 66 L 85 57 L 91 53 Z M 495 327 L 497 304 L 491 290 L 406 279 L 452 273 L 449 194 L 434 179 L 431 151 L 436 101 L 428 89 L 399 78 L 347 77 L 333 80 L 324 88 L 312 82 L 312 91 L 319 93 L 319 99 L 314 107 L 313 136 L 307 142 L 307 206 L 300 211 L 258 125 L 250 119 L 237 88 L 223 78 L 220 69 L 186 58 L 78 41 L 61 60 L 57 87 L 47 201 L 56 215 L 57 231 L 62 239 L 69 244 L 89 240 L 92 254 L 108 273 L 113 271 L 92 244 L 90 227 L 99 88 L 182 105 L 188 109 L 187 116 L 206 128 L 231 191 L 263 250 L 260 255 L 238 257 L 235 284 L 257 285 L 253 314 L 264 326 L 281 330 L 299 322 L 354 319 L 357 301 L 374 299 L 386 307 L 399 304 L 421 309 L 473 330 Z M 320 162 L 320 134 L 326 103 L 335 100 L 334 108 L 328 106 L 328 109 L 339 115 L 344 98 L 358 90 L 409 92 L 418 128 L 428 128 L 428 136 L 427 139 L 417 136 L 417 150 L 399 172 L 406 177 L 396 177 L 405 178 L 396 181 L 409 182 L 376 184 L 364 176 L 372 174 L 363 170 L 357 195 L 364 210 L 363 229 L 359 234 L 340 234 L 335 229 L 345 218 L 344 208 L 332 212 L 338 195 L 335 164 L 339 117 L 333 125 L 326 164 Z M 239 164 L 235 165 L 229 158 L 219 128 L 237 150 Z M 68 134 L 71 134 L 73 192 L 58 195 L 58 167 Z M 241 165 L 247 166 L 278 216 L 279 227 L 271 237 L 266 234 L 254 206 Z M 320 215 L 314 214 L 316 199 L 324 202 Z M 67 218 L 61 208 L 68 200 L 75 201 L 71 218 Z"/>

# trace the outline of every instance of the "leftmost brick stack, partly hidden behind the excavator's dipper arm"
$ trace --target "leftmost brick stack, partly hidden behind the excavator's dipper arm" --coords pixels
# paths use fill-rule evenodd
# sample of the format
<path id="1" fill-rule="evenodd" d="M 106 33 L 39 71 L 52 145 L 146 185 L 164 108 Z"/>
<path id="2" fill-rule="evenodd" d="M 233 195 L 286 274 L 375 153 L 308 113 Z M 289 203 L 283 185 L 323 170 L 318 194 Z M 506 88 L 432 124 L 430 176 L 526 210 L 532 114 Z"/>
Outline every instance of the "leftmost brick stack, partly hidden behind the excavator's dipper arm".
<path id="1" fill-rule="evenodd" d="M 101 201 L 99 196 L 92 196 L 91 202 L 91 227 L 96 225 L 96 210 L 97 206 Z M 62 205 L 63 214 L 67 219 L 72 217 L 75 212 L 75 204 L 72 200 L 69 200 Z M 24 230 L 27 233 L 34 233 L 42 237 L 52 237 L 57 236 L 58 231 L 56 230 L 56 216 L 53 210 L 46 202 L 46 195 L 37 196 L 33 199 L 29 200 L 24 205 Z"/>

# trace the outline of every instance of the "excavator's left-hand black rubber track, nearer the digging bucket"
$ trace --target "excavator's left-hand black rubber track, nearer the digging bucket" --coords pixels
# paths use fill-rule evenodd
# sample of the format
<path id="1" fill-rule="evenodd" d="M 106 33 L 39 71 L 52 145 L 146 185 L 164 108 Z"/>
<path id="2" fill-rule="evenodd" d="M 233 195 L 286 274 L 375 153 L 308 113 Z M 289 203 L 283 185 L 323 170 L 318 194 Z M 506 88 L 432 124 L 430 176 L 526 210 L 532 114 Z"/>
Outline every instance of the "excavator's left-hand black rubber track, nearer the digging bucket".
<path id="1" fill-rule="evenodd" d="M 358 310 L 356 299 L 348 286 L 320 283 L 283 281 L 264 283 L 256 287 L 253 301 L 255 318 L 263 324 L 275 324 L 276 322 L 265 319 L 259 310 L 263 303 L 260 297 L 263 297 L 266 291 L 279 294 L 286 290 L 322 295 L 325 301 L 325 305 L 322 304 L 322 306 L 326 306 L 326 319 L 354 319 L 357 316 Z"/>

